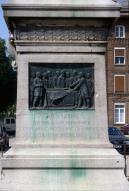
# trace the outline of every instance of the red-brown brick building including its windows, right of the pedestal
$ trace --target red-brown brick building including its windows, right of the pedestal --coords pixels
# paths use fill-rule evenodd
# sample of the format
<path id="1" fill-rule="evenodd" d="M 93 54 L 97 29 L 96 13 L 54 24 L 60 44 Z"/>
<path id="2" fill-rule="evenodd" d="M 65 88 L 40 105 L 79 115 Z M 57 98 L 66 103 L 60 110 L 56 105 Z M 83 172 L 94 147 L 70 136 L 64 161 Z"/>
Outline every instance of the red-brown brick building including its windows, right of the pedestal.
<path id="1" fill-rule="evenodd" d="M 110 30 L 107 49 L 109 126 L 129 124 L 129 6 L 123 1 L 121 17 Z"/>

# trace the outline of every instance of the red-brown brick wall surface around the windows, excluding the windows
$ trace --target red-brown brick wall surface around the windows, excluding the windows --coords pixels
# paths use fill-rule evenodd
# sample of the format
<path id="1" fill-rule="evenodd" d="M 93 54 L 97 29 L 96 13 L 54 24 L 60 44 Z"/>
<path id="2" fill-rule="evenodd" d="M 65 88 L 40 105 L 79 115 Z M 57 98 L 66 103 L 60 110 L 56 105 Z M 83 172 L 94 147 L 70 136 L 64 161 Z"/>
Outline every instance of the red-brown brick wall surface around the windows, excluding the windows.
<path id="1" fill-rule="evenodd" d="M 125 38 L 115 38 L 115 25 L 125 26 Z M 126 48 L 125 65 L 114 65 L 114 48 Z M 108 99 L 108 123 L 109 126 L 121 126 L 114 124 L 114 103 L 125 103 L 126 123 L 129 123 L 129 18 L 120 18 L 113 23 L 108 38 L 107 47 L 107 99 Z M 125 92 L 114 93 L 114 75 L 125 75 Z"/>

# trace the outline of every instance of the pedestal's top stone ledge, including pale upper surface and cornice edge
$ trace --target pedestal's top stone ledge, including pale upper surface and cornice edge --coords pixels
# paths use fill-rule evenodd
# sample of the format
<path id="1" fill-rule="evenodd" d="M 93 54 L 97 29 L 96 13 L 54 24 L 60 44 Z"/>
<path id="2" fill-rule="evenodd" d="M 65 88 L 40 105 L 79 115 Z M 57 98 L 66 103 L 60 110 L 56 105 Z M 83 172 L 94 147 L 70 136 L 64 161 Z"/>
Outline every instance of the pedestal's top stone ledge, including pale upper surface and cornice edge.
<path id="1" fill-rule="evenodd" d="M 37 18 L 115 18 L 120 16 L 120 6 L 111 0 L 13 0 L 3 7 L 6 19 L 8 17 L 23 18 L 23 15 L 24 17 L 34 18 L 35 14 Z"/>

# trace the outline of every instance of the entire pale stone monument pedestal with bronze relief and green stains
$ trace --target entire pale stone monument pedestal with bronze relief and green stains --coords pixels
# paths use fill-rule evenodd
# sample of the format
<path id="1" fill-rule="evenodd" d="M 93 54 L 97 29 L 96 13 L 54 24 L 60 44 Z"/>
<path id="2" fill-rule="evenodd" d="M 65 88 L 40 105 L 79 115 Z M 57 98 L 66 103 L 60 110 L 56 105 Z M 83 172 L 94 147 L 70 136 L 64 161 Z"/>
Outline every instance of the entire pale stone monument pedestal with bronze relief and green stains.
<path id="1" fill-rule="evenodd" d="M 107 133 L 105 52 L 118 5 L 13 0 L 3 9 L 18 87 L 16 140 L 3 156 L 0 188 L 128 191 Z"/>

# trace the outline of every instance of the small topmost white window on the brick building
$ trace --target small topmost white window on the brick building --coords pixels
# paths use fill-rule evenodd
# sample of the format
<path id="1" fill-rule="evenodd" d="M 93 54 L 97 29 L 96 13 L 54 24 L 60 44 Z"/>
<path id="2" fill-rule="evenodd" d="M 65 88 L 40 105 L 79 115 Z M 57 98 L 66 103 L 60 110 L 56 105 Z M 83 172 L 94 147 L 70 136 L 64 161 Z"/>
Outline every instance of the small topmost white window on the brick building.
<path id="1" fill-rule="evenodd" d="M 125 38 L 125 26 L 123 26 L 123 25 L 115 26 L 115 37 L 116 38 Z"/>

